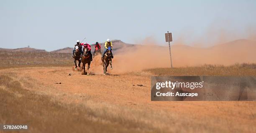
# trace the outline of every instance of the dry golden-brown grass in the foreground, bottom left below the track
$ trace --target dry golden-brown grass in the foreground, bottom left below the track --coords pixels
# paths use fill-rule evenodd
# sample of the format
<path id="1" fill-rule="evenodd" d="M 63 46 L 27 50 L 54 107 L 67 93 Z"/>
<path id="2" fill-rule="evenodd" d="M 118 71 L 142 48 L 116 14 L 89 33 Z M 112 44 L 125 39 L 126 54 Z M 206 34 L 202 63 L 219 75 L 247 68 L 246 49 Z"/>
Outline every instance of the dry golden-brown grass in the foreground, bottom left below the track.
<path id="1" fill-rule="evenodd" d="M 31 133 L 161 132 L 144 119 L 138 119 L 140 111 L 90 101 L 61 103 L 24 89 L 11 75 L 0 75 L 0 101 L 0 123 L 27 124 Z"/>

